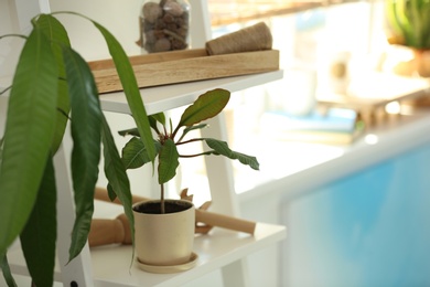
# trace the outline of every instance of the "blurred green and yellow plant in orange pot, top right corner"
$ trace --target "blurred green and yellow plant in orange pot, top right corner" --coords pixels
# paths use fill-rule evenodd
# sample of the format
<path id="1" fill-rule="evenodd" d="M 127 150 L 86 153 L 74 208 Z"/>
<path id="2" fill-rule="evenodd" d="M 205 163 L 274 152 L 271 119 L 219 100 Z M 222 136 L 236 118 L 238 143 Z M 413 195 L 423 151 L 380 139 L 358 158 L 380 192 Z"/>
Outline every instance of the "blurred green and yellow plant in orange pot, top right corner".
<path id="1" fill-rule="evenodd" d="M 411 50 L 413 57 L 400 63 L 404 74 L 430 76 L 430 1 L 429 0 L 386 0 L 387 22 L 390 44 Z M 401 72 L 400 72 L 401 73 Z"/>

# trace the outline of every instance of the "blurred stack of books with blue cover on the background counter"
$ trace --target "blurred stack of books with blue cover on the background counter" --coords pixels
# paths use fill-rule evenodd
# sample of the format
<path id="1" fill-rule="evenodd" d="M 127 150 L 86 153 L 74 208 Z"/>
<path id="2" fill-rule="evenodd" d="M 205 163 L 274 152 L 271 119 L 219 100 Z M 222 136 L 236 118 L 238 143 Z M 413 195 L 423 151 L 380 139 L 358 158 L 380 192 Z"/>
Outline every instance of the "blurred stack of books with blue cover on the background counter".
<path id="1" fill-rule="evenodd" d="M 357 111 L 347 108 L 314 110 L 307 116 L 271 111 L 262 116 L 261 125 L 276 139 L 331 145 L 352 144 L 365 129 Z"/>

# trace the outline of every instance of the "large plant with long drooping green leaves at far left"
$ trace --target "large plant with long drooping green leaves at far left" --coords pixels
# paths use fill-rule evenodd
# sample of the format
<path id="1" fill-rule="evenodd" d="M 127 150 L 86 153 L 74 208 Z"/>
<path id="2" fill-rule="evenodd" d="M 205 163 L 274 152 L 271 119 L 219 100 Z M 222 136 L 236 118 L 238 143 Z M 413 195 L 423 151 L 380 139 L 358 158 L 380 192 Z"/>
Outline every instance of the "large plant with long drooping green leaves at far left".
<path id="1" fill-rule="evenodd" d="M 109 31 L 92 22 L 106 40 L 140 135 L 151 135 L 126 53 Z M 122 202 L 133 233 L 127 173 L 101 113 L 89 66 L 73 50 L 65 28 L 54 14 L 40 14 L 32 19 L 32 25 L 30 34 L 22 36 L 24 45 L 12 85 L 0 91 L 9 92 L 6 130 L 3 137 L 0 135 L 0 266 L 9 286 L 14 280 L 7 251 L 18 236 L 33 284 L 53 285 L 56 252 L 53 157 L 63 141 L 67 123 L 73 138 L 71 170 L 76 210 L 69 261 L 87 242 L 101 145 L 104 157 L 109 158 L 105 173 L 115 190 L 111 196 Z M 6 36 L 14 35 L 0 39 Z M 149 138 L 141 139 L 151 161 L 155 150 Z"/>

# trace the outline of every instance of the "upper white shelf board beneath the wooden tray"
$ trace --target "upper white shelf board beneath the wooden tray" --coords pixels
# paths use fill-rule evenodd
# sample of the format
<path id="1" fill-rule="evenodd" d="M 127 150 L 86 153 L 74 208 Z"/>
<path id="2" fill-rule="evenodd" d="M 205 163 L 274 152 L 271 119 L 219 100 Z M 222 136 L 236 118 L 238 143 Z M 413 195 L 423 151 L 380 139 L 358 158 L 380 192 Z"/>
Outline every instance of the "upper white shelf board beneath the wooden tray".
<path id="1" fill-rule="evenodd" d="M 174 85 L 163 85 L 159 87 L 147 87 L 141 88 L 140 94 L 142 95 L 147 113 L 152 115 L 189 105 L 201 94 L 211 89 L 225 88 L 233 93 L 281 79 L 282 76 L 283 72 L 280 70 L 254 75 L 196 81 Z M 123 92 L 101 94 L 100 102 L 101 108 L 106 111 L 130 114 Z"/>

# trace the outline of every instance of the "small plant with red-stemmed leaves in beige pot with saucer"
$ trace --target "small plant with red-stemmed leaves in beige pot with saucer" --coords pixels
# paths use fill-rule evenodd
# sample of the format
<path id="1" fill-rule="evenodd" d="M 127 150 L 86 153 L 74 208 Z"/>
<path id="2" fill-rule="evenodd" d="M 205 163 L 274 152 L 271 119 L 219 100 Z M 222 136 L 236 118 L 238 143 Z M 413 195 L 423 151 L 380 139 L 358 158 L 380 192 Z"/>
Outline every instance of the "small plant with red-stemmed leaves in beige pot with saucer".
<path id="1" fill-rule="evenodd" d="M 183 270 L 191 267 L 190 262 L 195 258 L 192 253 L 195 224 L 192 203 L 164 199 L 164 184 L 175 177 L 180 160 L 215 155 L 237 159 L 255 170 L 259 169 L 255 157 L 232 150 L 225 141 L 190 136 L 192 132 L 206 128 L 207 125 L 203 121 L 218 115 L 227 105 L 230 93 L 221 88 L 206 92 L 184 109 L 178 124 L 173 124 L 172 119 L 166 120 L 163 113 L 149 116 L 149 123 L 154 131 L 160 200 L 133 205 L 137 256 L 140 267 L 146 270 L 155 273 L 164 273 L 166 269 L 170 272 Z M 123 130 L 120 131 L 120 135 L 132 136 L 122 149 L 122 162 L 126 169 L 140 168 L 150 162 L 146 146 L 142 145 L 141 136 L 137 129 Z M 194 155 L 181 152 L 182 146 L 195 142 L 204 142 L 208 150 Z M 184 213 L 190 214 L 186 216 L 189 222 L 185 227 L 180 227 L 179 231 L 173 230 L 180 225 L 180 223 L 173 222 L 176 211 L 181 216 L 186 216 L 183 215 Z M 162 222 L 164 217 L 165 222 Z M 180 222 L 183 221 L 184 217 L 180 219 Z M 158 234 L 159 232 L 161 234 Z M 179 243 L 179 238 L 182 236 L 185 238 L 185 243 Z M 164 240 L 166 240 L 165 243 L 163 243 Z M 144 246 L 144 242 L 150 245 Z M 159 246 L 160 249 L 155 246 Z M 173 249 L 169 251 L 170 247 Z"/>

